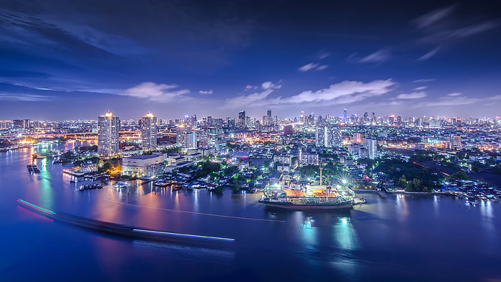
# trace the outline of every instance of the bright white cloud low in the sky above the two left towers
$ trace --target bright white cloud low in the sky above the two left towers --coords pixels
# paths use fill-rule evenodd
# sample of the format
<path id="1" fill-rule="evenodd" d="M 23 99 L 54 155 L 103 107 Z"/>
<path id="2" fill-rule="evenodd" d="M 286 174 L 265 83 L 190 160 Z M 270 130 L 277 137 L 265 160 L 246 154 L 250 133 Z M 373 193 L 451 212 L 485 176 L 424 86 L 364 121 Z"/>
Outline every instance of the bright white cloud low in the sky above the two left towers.
<path id="1" fill-rule="evenodd" d="M 125 90 L 122 95 L 145 98 L 157 102 L 169 102 L 189 93 L 188 89 L 175 90 L 177 87 L 177 85 L 146 82 Z"/>

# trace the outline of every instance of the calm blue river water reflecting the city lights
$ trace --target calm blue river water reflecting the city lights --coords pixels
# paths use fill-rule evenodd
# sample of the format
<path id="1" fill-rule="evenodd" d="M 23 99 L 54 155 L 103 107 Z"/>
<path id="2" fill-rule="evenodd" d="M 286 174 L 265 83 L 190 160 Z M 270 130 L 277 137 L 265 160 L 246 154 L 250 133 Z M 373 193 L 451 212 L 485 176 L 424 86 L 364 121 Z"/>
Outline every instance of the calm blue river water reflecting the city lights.
<path id="1" fill-rule="evenodd" d="M 470 207 L 449 197 L 361 194 L 369 204 L 346 213 L 303 213 L 268 210 L 257 202 L 261 193 L 217 196 L 140 182 L 80 192 L 82 183 L 70 183 L 61 164 L 37 160 L 41 173 L 28 173 L 33 150 L 44 148 L 0 153 L 0 281 L 501 279 L 501 203 Z M 200 248 L 103 235 L 31 213 L 17 206 L 17 198 L 73 215 L 235 243 Z"/>

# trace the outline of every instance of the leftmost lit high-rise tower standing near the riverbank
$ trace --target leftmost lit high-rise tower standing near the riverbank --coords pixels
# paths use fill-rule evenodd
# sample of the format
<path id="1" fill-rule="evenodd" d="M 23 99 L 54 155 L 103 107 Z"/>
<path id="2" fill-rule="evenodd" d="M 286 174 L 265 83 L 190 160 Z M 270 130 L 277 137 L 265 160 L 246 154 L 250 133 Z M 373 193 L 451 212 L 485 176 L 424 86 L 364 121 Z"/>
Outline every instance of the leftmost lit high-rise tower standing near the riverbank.
<path id="1" fill-rule="evenodd" d="M 120 131 L 120 118 L 113 113 L 105 113 L 98 117 L 98 154 L 111 157 L 118 154 L 120 142 L 118 132 Z"/>

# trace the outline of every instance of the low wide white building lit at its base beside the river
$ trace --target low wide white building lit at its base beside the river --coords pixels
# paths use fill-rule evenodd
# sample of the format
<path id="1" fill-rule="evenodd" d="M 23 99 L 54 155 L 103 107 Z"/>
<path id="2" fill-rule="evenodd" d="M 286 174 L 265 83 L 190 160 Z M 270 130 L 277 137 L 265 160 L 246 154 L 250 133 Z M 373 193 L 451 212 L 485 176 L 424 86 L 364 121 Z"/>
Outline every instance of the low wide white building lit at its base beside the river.
<path id="1" fill-rule="evenodd" d="M 136 177 L 155 177 L 163 173 L 167 154 L 132 155 L 122 159 L 122 173 Z"/>

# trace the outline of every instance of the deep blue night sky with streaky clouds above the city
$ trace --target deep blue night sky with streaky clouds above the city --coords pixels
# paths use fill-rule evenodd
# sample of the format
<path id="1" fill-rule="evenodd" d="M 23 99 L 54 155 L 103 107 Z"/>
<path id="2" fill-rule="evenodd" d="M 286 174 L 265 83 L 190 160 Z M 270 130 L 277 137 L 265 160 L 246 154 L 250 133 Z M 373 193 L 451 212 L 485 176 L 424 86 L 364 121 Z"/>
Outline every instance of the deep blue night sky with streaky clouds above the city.
<path id="1" fill-rule="evenodd" d="M 0 1 L 0 119 L 501 116 L 497 1 Z"/>

